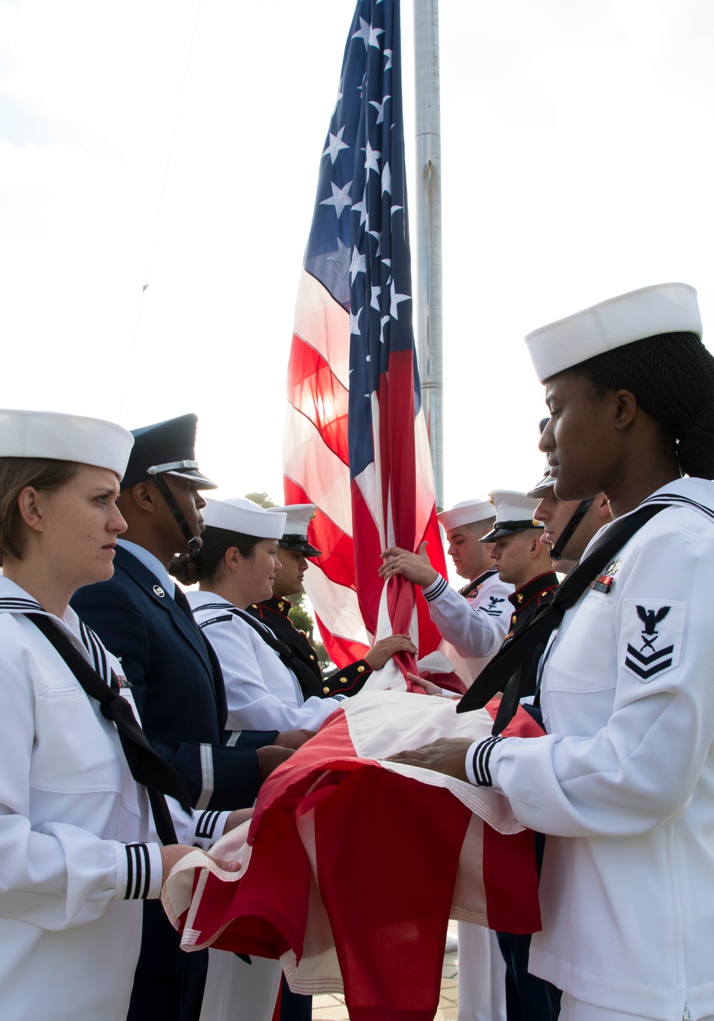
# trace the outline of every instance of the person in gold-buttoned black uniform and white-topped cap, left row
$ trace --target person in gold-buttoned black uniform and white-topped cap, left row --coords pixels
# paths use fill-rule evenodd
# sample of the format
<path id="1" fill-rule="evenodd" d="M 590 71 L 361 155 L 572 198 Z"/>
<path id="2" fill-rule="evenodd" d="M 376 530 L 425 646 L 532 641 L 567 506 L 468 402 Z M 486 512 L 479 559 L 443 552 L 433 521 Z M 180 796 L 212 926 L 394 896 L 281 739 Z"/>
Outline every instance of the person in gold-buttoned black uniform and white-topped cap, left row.
<path id="1" fill-rule="evenodd" d="M 388 635 L 374 642 L 362 660 L 323 674 L 310 639 L 304 631 L 294 626 L 288 616 L 293 605 L 289 597 L 296 595 L 302 587 L 303 577 L 309 567 L 307 557 L 322 555 L 307 537 L 315 504 L 293 503 L 268 509 L 271 514 L 285 514 L 287 519 L 285 534 L 278 542 L 277 550 L 280 570 L 273 581 L 272 596 L 250 603 L 247 611 L 256 620 L 267 625 L 307 668 L 307 674 L 305 671 L 296 671 L 306 697 L 312 694 L 320 694 L 324 698 L 357 694 L 371 672 L 380 670 L 397 652 L 416 653 L 416 646 L 409 635 Z"/>

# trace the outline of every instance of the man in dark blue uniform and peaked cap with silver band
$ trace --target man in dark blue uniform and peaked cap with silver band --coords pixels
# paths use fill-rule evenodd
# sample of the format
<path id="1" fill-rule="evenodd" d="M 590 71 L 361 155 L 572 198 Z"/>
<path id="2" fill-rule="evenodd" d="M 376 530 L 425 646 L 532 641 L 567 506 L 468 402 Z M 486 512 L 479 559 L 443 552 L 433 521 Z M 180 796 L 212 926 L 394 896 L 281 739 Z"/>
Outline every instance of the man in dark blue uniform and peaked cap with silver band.
<path id="1" fill-rule="evenodd" d="M 193 806 L 213 810 L 205 835 L 215 838 L 218 812 L 252 805 L 290 750 L 275 746 L 285 740 L 275 730 L 226 733 L 220 668 L 168 575 L 176 552 L 200 549 L 201 491 L 214 488 L 198 470 L 196 423 L 184 415 L 134 431 L 117 499 L 128 529 L 113 578 L 80 589 L 72 606 L 119 657 L 150 741 L 184 777 Z M 198 1018 L 206 960 L 204 952 L 184 954 L 161 906 L 148 905 L 131 1021 Z"/>

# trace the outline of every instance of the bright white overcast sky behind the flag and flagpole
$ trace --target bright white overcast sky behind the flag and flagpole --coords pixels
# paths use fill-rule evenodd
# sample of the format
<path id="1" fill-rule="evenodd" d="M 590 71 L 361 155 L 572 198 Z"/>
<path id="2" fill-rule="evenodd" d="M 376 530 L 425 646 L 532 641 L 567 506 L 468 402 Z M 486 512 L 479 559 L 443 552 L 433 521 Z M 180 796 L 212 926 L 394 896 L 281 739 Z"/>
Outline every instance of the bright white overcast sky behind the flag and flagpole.
<path id="1" fill-rule="evenodd" d="M 282 500 L 293 307 L 353 9 L 0 0 L 5 404 L 130 428 L 195 410 L 219 495 Z M 411 166 L 408 0 L 403 17 Z M 714 4 L 442 0 L 440 17 L 449 506 L 540 478 L 528 330 L 683 280 L 714 337 Z"/>

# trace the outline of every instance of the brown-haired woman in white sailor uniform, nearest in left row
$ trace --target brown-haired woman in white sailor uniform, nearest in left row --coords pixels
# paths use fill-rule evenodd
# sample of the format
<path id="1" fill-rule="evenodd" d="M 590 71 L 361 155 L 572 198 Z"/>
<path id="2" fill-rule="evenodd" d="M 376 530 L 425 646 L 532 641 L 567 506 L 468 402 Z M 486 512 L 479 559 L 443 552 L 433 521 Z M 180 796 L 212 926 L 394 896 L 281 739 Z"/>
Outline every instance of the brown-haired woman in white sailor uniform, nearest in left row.
<path id="1" fill-rule="evenodd" d="M 13 1021 L 125 1018 L 142 901 L 158 906 L 188 844 L 210 842 L 202 817 L 169 813 L 164 794 L 188 807 L 186 786 L 68 606 L 111 577 L 133 442 L 110 422 L 0 411 L 0 1014 Z M 150 801 L 181 844 L 161 846 Z"/>

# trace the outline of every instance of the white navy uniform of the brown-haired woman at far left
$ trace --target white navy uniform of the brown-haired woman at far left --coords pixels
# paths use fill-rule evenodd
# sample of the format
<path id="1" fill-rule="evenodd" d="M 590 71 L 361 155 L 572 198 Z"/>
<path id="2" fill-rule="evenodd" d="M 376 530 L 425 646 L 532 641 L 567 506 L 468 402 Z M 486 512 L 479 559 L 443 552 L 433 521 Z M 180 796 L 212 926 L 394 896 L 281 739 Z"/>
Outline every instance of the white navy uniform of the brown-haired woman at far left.
<path id="1" fill-rule="evenodd" d="M 24 612 L 44 613 L 0 577 L 0 1019 L 120 1021 L 160 844 L 114 724 Z M 47 616 L 94 666 L 76 614 Z M 196 837 L 206 816 L 222 833 L 226 814 L 192 820 L 168 801 L 182 842 L 208 847 Z"/>

